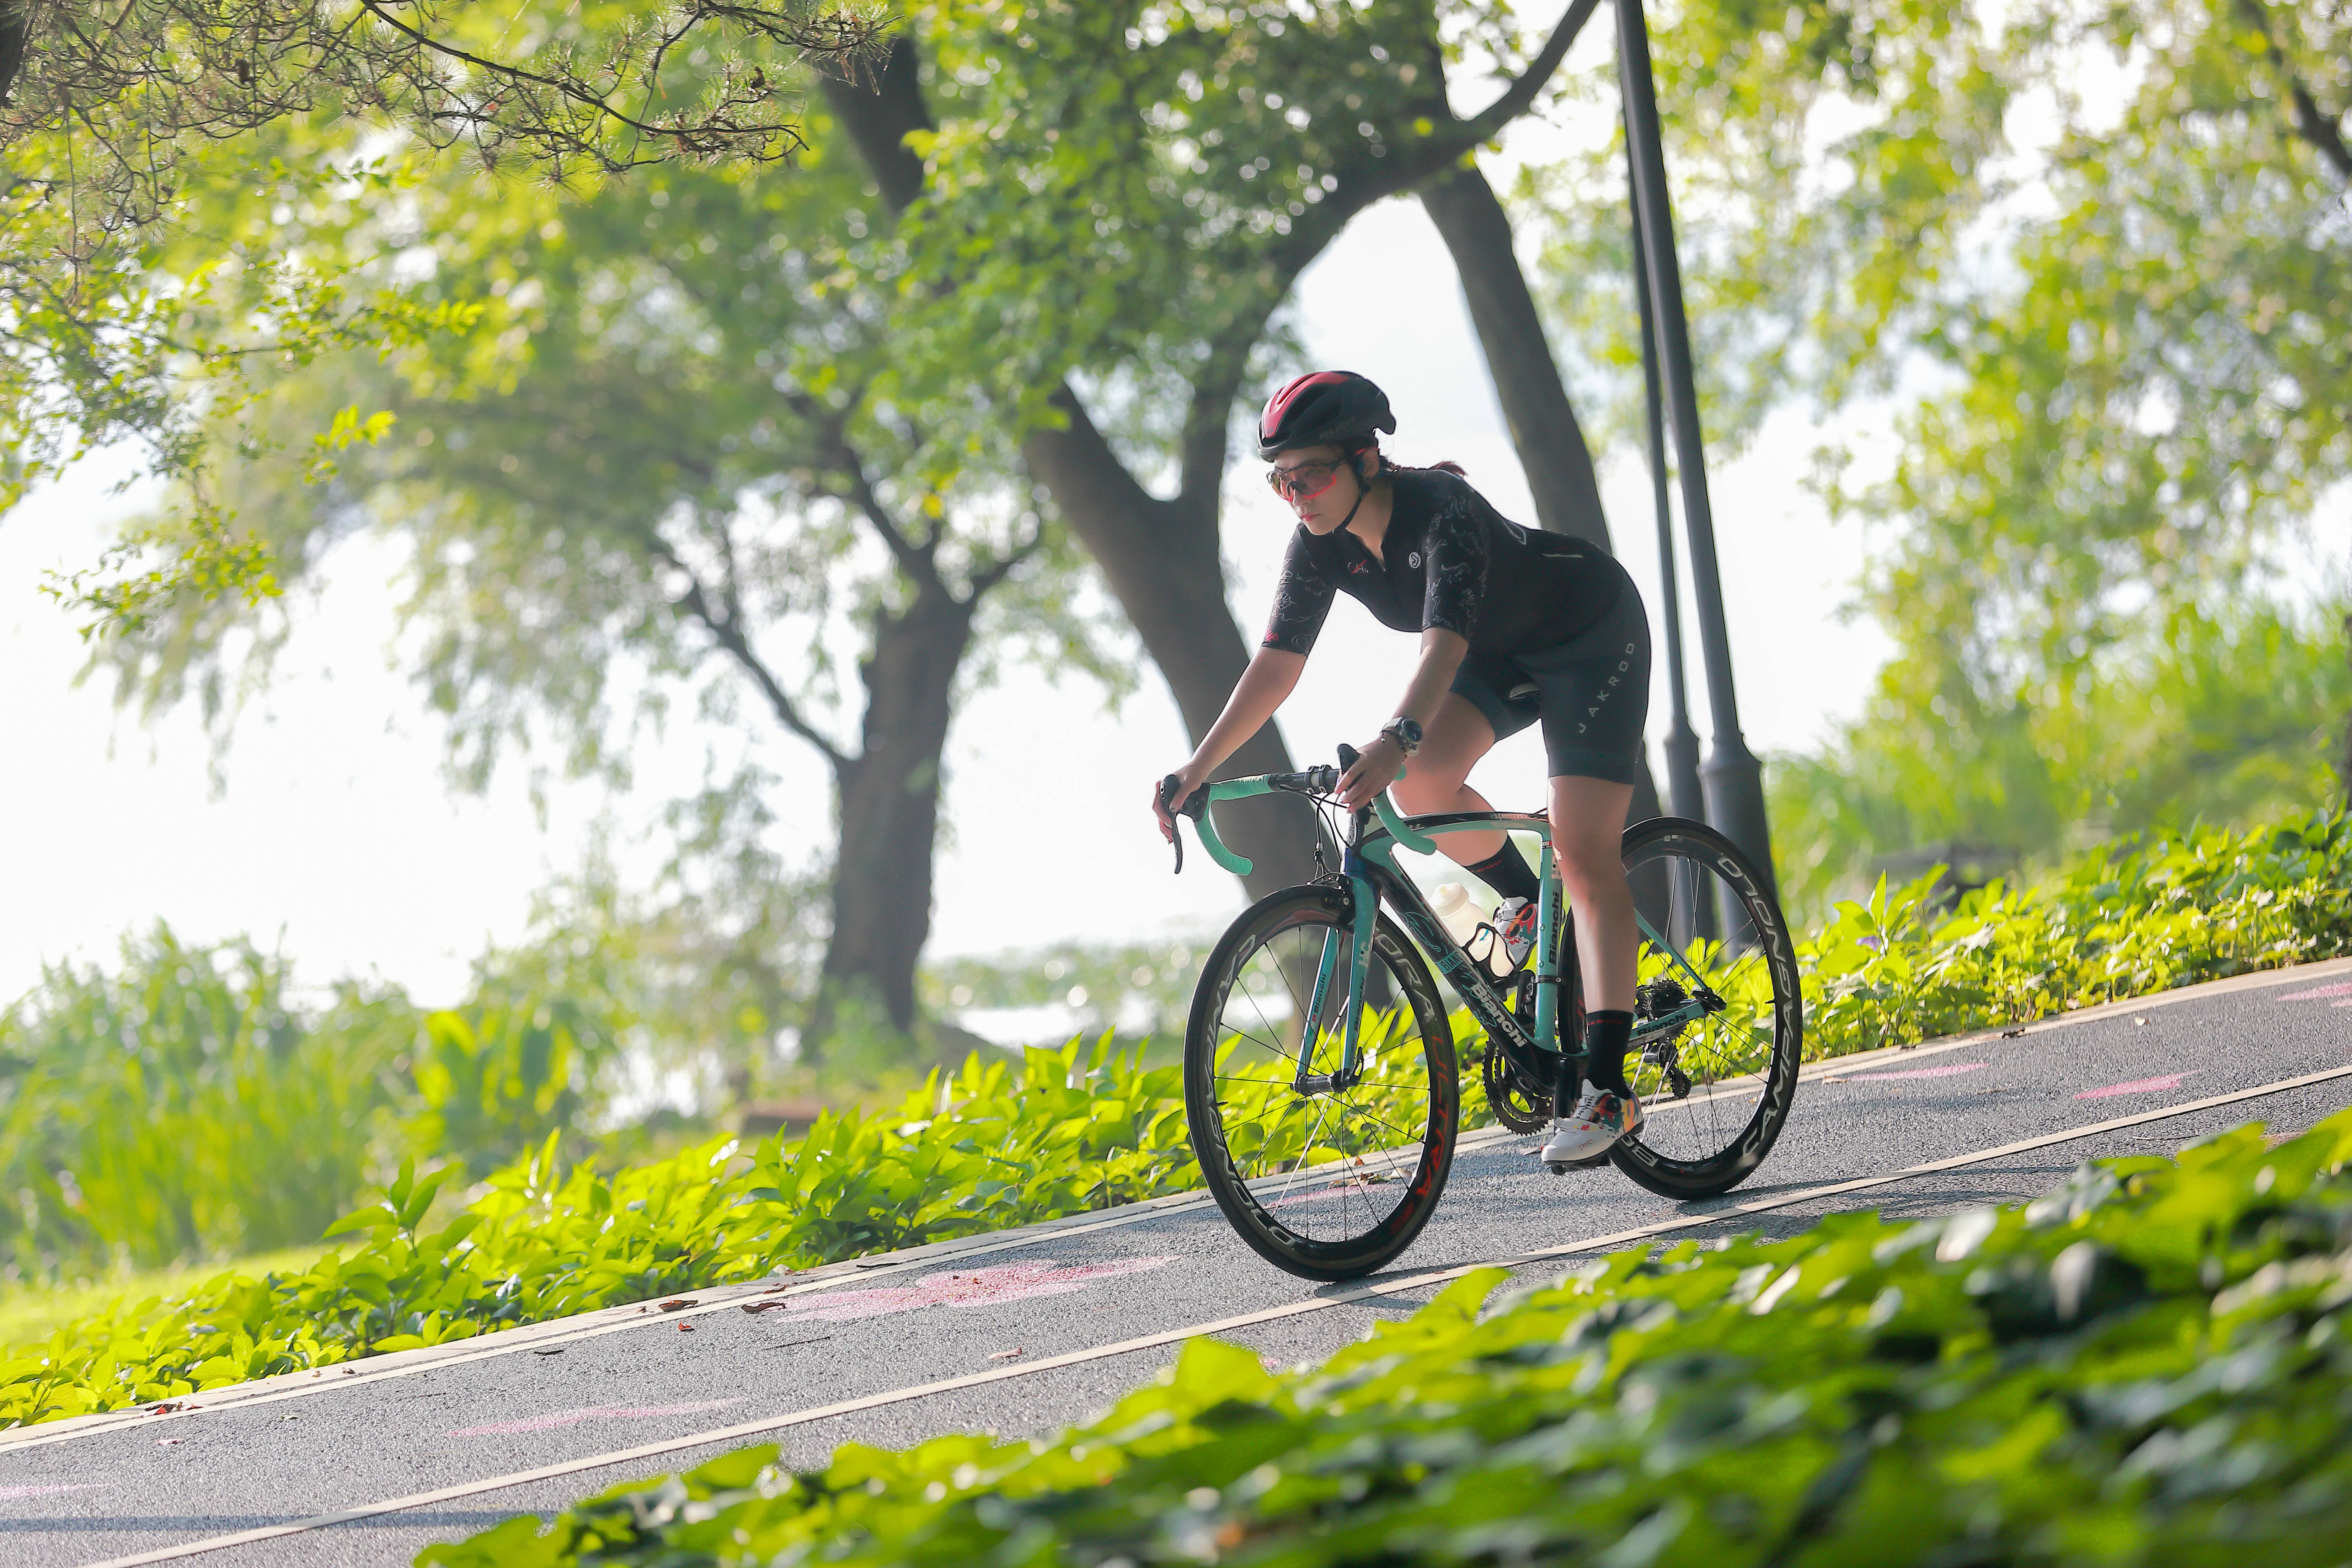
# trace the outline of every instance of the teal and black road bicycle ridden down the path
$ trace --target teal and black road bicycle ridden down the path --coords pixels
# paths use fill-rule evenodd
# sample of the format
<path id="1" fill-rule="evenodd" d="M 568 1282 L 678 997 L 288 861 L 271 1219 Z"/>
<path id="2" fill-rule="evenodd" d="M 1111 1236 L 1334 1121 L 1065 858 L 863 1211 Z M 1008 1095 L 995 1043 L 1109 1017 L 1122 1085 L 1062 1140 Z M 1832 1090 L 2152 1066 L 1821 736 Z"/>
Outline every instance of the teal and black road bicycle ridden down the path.
<path id="1" fill-rule="evenodd" d="M 1249 875 L 1214 802 L 1301 795 L 1324 813 L 1341 865 L 1254 903 L 1218 938 L 1185 1027 L 1185 1117 L 1218 1208 L 1268 1262 L 1355 1279 L 1414 1244 L 1444 1194 L 1461 1128 L 1461 1065 L 1430 961 L 1484 1032 L 1468 1051 L 1486 1105 L 1512 1131 L 1550 1124 L 1552 1084 L 1581 1074 L 1583 992 L 1573 910 L 1543 813 L 1397 816 L 1388 795 L 1348 813 L 1331 797 L 1355 762 L 1228 778 L 1178 809 L 1211 860 Z M 1174 788 L 1162 780 L 1162 799 Z M 1345 816 L 1345 837 L 1338 818 Z M 1449 832 L 1543 839 L 1536 950 L 1496 980 L 1454 945 L 1397 851 L 1437 853 Z M 1176 842 L 1183 870 L 1183 839 Z M 1639 1133 L 1581 1166 L 1613 1164 L 1651 1192 L 1729 1192 L 1771 1152 L 1797 1093 L 1804 1006 L 1788 924 L 1757 867 L 1705 823 L 1661 816 L 1625 830 L 1639 922 L 1628 1086 Z M 1383 910 L 1385 905 L 1385 910 Z M 1569 1079 L 1573 1088 L 1581 1077 Z M 1552 1166 L 1564 1173 L 1569 1166 Z"/>

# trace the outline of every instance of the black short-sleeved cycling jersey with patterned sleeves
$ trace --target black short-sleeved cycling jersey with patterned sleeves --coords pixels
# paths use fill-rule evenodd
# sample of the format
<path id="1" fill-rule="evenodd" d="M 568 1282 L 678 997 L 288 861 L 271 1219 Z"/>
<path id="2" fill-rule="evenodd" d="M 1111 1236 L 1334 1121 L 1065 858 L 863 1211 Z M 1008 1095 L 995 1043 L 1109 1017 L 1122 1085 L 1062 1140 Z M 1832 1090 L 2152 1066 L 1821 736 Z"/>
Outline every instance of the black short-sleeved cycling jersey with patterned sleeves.
<path id="1" fill-rule="evenodd" d="M 1630 585 L 1604 550 L 1508 522 L 1470 482 L 1437 468 L 1390 470 L 1395 503 L 1381 559 L 1345 531 L 1291 534 L 1263 646 L 1308 654 L 1348 592 L 1399 632 L 1444 628 L 1472 656 L 1550 649 L 1590 630 Z"/>

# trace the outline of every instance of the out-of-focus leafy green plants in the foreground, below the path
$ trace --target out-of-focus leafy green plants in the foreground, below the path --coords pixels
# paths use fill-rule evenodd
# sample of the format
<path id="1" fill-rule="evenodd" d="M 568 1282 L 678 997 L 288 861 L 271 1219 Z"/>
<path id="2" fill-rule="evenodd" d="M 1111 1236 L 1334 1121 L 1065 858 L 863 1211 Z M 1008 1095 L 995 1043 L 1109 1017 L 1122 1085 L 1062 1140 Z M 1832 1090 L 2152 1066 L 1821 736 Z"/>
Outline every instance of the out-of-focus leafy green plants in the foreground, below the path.
<path id="1" fill-rule="evenodd" d="M 1905 1225 L 1475 1274 L 1319 1368 L 1195 1340 L 1042 1441 L 746 1448 L 442 1568 L 2340 1563 L 2352 1112 Z"/>

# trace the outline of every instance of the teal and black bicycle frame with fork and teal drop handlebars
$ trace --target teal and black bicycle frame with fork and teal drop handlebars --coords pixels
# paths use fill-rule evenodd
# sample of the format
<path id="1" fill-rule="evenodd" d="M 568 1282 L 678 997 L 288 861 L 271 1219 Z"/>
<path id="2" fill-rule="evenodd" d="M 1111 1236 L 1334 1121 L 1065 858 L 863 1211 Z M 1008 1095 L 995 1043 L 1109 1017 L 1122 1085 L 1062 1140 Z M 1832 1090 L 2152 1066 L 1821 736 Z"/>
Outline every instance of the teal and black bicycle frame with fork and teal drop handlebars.
<path id="1" fill-rule="evenodd" d="M 1228 778 L 1207 788 L 1207 799 L 1202 802 L 1200 816 L 1195 818 L 1195 830 L 1200 832 L 1200 846 L 1211 860 L 1223 865 L 1237 877 L 1247 877 L 1254 870 L 1249 856 L 1237 856 L 1225 849 L 1225 842 L 1216 835 L 1216 823 L 1209 816 L 1209 806 L 1221 799 L 1249 799 L 1254 795 L 1305 792 L 1301 790 L 1298 773 L 1261 773 L 1256 778 Z M 1541 865 L 1536 867 L 1543 884 L 1543 896 L 1536 907 L 1536 1018 L 1534 1032 L 1529 1032 L 1510 1006 L 1496 997 L 1486 976 L 1470 964 L 1470 957 L 1454 945 L 1446 936 L 1444 924 L 1430 910 L 1421 889 L 1409 875 L 1397 865 L 1397 849 L 1411 849 L 1416 853 L 1437 853 L 1437 837 L 1446 832 L 1534 832 L 1543 839 Z M 1559 919 L 1559 877 L 1552 865 L 1552 823 L 1541 813 L 1529 811 L 1451 811 L 1439 816 L 1397 816 L 1388 804 L 1388 792 L 1383 790 L 1371 799 L 1371 806 L 1355 813 L 1352 835 L 1345 844 L 1341 858 L 1341 877 L 1348 884 L 1348 896 L 1352 900 L 1352 947 L 1355 954 L 1348 964 L 1348 1020 L 1343 1025 L 1343 1046 L 1336 1072 L 1308 1072 L 1312 1051 L 1298 1053 L 1298 1079 L 1294 1088 L 1298 1093 L 1324 1093 L 1334 1088 L 1350 1088 L 1362 1070 L 1362 1046 L 1359 1034 L 1364 1027 L 1364 983 L 1371 969 L 1371 938 L 1374 926 L 1381 917 L 1381 900 L 1397 912 L 1397 919 L 1411 933 L 1414 943 L 1437 961 L 1437 969 L 1454 985 L 1456 994 L 1470 1009 L 1470 1016 L 1479 1020 L 1486 1030 L 1486 1039 L 1501 1046 L 1503 1056 L 1526 1074 L 1531 1081 L 1550 1081 L 1550 1074 L 1559 1067 L 1562 1046 L 1559 1039 L 1559 983 L 1562 983 L 1562 952 L 1559 931 L 1564 922 Z M 1722 997 L 1691 969 L 1689 959 L 1675 943 L 1658 936 L 1656 926 L 1639 912 L 1635 922 L 1649 943 L 1668 954 L 1668 959 L 1686 976 L 1689 999 L 1656 1018 L 1637 1018 L 1632 1046 L 1639 1048 L 1649 1039 L 1679 1034 L 1684 1025 L 1696 1023 L 1708 1013 L 1719 1013 L 1724 1009 Z M 1324 933 L 1322 964 L 1315 973 L 1315 990 L 1308 1001 L 1305 1018 L 1322 1018 L 1324 1001 L 1331 994 L 1334 980 L 1338 980 L 1338 931 Z M 1541 1056 L 1538 1056 L 1541 1053 Z M 1583 1056 L 1578 1048 L 1573 1056 Z M 1543 1058 L 1552 1058 L 1545 1063 Z"/>

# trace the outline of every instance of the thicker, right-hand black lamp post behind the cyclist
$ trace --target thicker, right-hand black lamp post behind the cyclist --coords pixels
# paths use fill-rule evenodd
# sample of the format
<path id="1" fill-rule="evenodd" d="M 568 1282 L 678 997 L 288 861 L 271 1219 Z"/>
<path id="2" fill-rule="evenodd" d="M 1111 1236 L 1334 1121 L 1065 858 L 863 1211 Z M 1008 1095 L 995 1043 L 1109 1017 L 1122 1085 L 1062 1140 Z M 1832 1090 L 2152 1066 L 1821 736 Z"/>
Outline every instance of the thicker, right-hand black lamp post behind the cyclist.
<path id="1" fill-rule="evenodd" d="M 1748 851 L 1766 882 L 1771 867 L 1771 827 L 1764 820 L 1764 769 L 1748 738 L 1740 736 L 1740 705 L 1731 689 L 1731 639 L 1724 632 L 1724 583 L 1715 564 L 1715 510 L 1708 505 L 1708 463 L 1698 435 L 1698 386 L 1691 374 L 1691 327 L 1682 313 L 1682 266 L 1675 261 L 1675 214 L 1665 193 L 1665 148 L 1658 139 L 1658 89 L 1649 63 L 1649 24 L 1642 16 L 1642 0 L 1616 0 L 1618 16 L 1618 80 L 1625 92 L 1625 162 L 1632 169 L 1632 214 L 1639 233 L 1637 256 L 1642 263 L 1642 294 L 1649 331 L 1644 331 L 1642 360 L 1663 371 L 1665 411 L 1675 428 L 1675 468 L 1682 480 L 1682 520 L 1691 536 L 1691 595 L 1698 611 L 1698 651 L 1708 670 L 1708 712 L 1715 722 L 1715 750 L 1700 769 L 1700 785 L 1708 799 L 1708 820 L 1733 844 Z M 1651 378 L 1651 430 L 1658 428 L 1658 378 Z M 1663 498 L 1663 451 L 1651 437 L 1653 473 L 1661 475 Z M 1665 559 L 1668 592 L 1672 592 L 1672 552 Z M 1677 609 L 1668 609 L 1668 625 L 1679 621 Z M 1677 628 L 1679 630 L 1679 628 Z M 1679 668 L 1682 649 L 1672 649 Z M 1679 686 L 1679 682 L 1677 682 Z M 1679 705 L 1679 703 L 1677 703 Z M 1686 729 L 1686 722 L 1684 722 Z M 1696 741 L 1696 738 L 1693 738 Z M 1672 736 L 1668 741 L 1672 745 Z M 1672 764 L 1672 755 L 1668 757 Z M 1684 809 L 1682 780 L 1668 776 L 1675 788 L 1675 809 Z"/>

